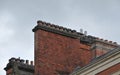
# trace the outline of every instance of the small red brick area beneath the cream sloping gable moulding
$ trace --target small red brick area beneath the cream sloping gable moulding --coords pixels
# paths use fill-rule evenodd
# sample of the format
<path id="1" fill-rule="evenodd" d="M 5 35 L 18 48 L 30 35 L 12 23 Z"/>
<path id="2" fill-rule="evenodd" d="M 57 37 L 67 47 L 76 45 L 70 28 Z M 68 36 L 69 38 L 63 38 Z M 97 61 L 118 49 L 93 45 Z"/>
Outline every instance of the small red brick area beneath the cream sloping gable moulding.
<path id="1" fill-rule="evenodd" d="M 112 73 L 115 73 L 117 71 L 120 71 L 120 63 L 118 63 L 106 70 L 103 70 L 102 72 L 98 73 L 97 75 L 111 75 Z"/>

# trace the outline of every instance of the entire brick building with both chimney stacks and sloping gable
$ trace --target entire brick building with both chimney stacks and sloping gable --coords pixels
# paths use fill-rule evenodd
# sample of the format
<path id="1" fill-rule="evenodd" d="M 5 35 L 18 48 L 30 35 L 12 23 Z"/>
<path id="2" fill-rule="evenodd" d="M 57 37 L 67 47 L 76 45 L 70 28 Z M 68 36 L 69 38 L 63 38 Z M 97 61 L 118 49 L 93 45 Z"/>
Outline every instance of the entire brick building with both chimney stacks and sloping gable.
<path id="1" fill-rule="evenodd" d="M 120 75 L 120 46 L 86 32 L 37 21 L 33 62 L 11 58 L 6 75 Z"/>

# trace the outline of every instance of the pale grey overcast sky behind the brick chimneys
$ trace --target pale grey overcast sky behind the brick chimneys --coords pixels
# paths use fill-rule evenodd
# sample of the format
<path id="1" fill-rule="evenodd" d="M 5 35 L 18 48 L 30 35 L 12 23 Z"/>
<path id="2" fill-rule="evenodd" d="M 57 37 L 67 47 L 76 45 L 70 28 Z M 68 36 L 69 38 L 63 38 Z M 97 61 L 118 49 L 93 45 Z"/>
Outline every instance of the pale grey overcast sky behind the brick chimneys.
<path id="1" fill-rule="evenodd" d="M 37 20 L 120 43 L 120 0 L 0 0 L 0 75 L 11 57 L 34 60 Z"/>

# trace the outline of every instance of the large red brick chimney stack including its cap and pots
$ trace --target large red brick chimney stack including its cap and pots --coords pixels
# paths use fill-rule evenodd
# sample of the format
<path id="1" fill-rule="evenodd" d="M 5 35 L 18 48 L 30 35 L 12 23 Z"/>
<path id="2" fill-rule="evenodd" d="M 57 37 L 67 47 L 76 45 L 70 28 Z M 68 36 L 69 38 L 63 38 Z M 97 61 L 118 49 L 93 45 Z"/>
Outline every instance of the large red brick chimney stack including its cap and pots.
<path id="1" fill-rule="evenodd" d="M 33 32 L 35 75 L 69 75 L 119 47 L 116 42 L 43 21 L 37 22 Z"/>

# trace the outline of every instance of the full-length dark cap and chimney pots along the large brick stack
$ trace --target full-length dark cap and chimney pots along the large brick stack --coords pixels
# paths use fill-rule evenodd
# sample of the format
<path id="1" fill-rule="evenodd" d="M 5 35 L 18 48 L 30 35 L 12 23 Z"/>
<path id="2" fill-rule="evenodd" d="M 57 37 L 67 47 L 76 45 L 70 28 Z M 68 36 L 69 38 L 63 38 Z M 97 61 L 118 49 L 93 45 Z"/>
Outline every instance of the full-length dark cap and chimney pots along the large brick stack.
<path id="1" fill-rule="evenodd" d="M 96 42 L 102 42 L 102 43 L 118 46 L 117 42 L 103 40 L 98 37 L 87 35 L 87 32 L 85 31 L 85 33 L 83 33 L 82 29 L 80 30 L 80 32 L 77 32 L 76 30 L 72 30 L 69 28 L 55 25 L 55 24 L 47 23 L 41 20 L 37 21 L 37 26 L 35 26 L 35 28 L 33 28 L 32 31 L 36 32 L 39 29 L 60 34 L 63 36 L 71 37 L 71 38 L 77 38 L 77 39 L 80 39 L 81 42 L 87 43 L 89 45 L 96 41 Z"/>

